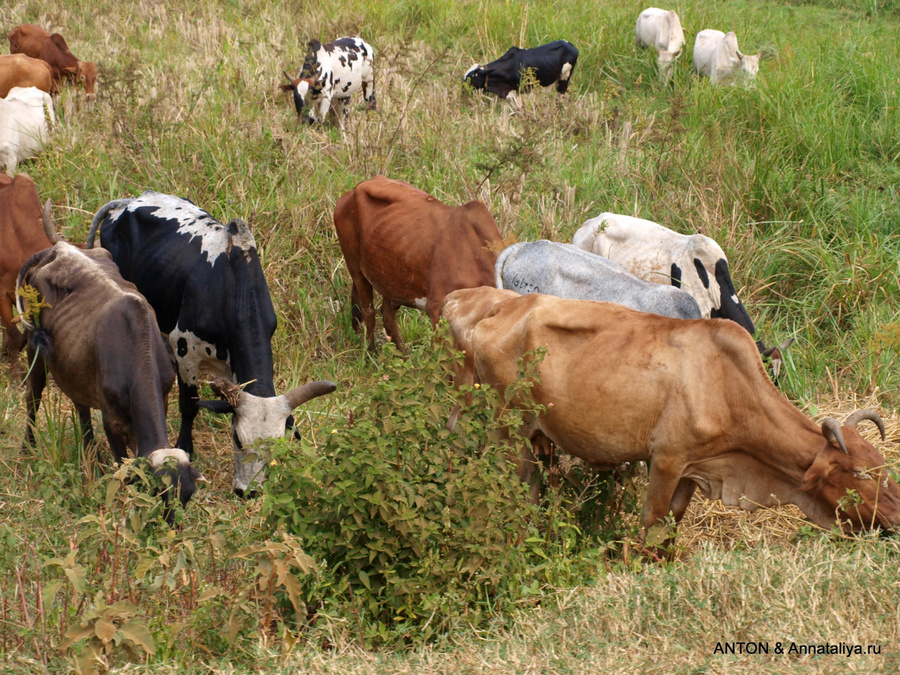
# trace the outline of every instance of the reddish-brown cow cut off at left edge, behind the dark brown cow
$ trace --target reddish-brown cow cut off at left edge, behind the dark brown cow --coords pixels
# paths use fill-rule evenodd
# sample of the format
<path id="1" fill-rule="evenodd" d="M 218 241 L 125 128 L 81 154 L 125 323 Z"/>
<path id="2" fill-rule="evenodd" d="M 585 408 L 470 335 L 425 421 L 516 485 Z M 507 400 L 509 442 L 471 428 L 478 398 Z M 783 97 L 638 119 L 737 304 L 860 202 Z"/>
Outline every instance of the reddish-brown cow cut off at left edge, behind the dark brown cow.
<path id="1" fill-rule="evenodd" d="M 16 275 L 32 254 L 49 246 L 34 181 L 26 173 L 13 179 L 0 173 L 0 320 L 12 380 L 22 379 L 19 351 L 24 345 L 22 334 L 12 323 Z"/>

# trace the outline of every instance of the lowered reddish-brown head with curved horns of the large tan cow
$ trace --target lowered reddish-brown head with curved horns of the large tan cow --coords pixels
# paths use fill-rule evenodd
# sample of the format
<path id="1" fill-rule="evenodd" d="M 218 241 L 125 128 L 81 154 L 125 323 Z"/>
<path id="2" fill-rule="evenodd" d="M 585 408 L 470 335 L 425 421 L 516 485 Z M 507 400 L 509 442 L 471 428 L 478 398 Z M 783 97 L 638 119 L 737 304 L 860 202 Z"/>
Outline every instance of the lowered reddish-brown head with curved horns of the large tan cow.
<path id="1" fill-rule="evenodd" d="M 873 410 L 857 410 L 843 426 L 833 417 L 822 422 L 827 442 L 800 484 L 817 502 L 819 517 L 807 515 L 830 527 L 838 511 L 849 530 L 894 530 L 900 527 L 900 485 L 888 475 L 884 457 L 856 430 L 862 420 L 874 422 L 884 440 L 884 423 Z"/>

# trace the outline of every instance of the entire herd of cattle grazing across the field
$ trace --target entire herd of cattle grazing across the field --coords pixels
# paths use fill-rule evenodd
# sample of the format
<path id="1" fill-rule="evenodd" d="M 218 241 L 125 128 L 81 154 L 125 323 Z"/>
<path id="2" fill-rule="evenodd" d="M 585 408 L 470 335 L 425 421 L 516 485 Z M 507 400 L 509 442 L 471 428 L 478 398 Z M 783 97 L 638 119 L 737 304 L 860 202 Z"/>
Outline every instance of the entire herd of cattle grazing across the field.
<path id="1" fill-rule="evenodd" d="M 710 46 L 713 33 L 697 36 L 698 72 L 720 82 L 738 70 L 755 72 L 755 57 L 737 51 L 733 33 Z M 40 92 L 50 111 L 50 93 L 65 76 L 83 77 L 93 93 L 96 69 L 72 57 L 61 37 L 22 26 L 9 34 L 11 49 L 31 53 L 29 40 L 41 35 L 40 54 L 51 53 L 51 44 L 53 54 L 71 59 L 46 61 L 46 89 L 18 91 Z M 657 49 L 661 75 L 670 77 L 684 44 L 677 14 L 646 10 L 635 35 Z M 473 66 L 465 79 L 505 98 L 528 83 L 530 70 L 542 86 L 564 93 L 577 58 L 563 40 L 512 48 Z M 300 76 L 285 73 L 283 88 L 293 92 L 298 115 L 309 106 L 312 121 L 324 120 L 335 103 L 346 113 L 347 98 L 359 90 L 374 109 L 373 60 L 359 38 L 313 41 Z M 43 119 L 52 123 L 52 114 Z M 781 395 L 760 357 L 777 364 L 779 348 L 754 342 L 753 321 L 712 239 L 602 213 L 571 244 L 504 247 L 480 201 L 450 206 L 382 176 L 344 194 L 333 219 L 352 282 L 353 326 L 365 325 L 369 349 L 376 346 L 376 291 L 384 328 L 401 350 L 399 307 L 448 322 L 465 355 L 454 373 L 460 386 L 503 390 L 519 377 L 524 355 L 546 348 L 531 389 L 546 412 L 527 421 L 532 448 L 516 458 L 533 499 L 540 488 L 534 468 L 553 443 L 598 468 L 648 462 L 648 529 L 669 513 L 678 521 L 697 488 L 749 510 L 793 503 L 824 527 L 836 514 L 848 529 L 900 525 L 900 486 L 856 429 L 869 420 L 884 438 L 883 422 L 861 410 L 843 425 L 833 418 L 819 425 Z M 10 379 L 22 378 L 25 343 L 31 364 L 26 442 L 34 443 L 49 373 L 73 401 L 85 443 L 93 440 L 90 409 L 99 409 L 116 459 L 127 448 L 146 458 L 170 478 L 182 504 L 204 480 L 192 466 L 200 407 L 232 415 L 232 486 L 245 496 L 265 479 L 261 441 L 292 428 L 299 405 L 336 389 L 323 380 L 276 394 L 276 316 L 253 235 L 242 220 L 223 225 L 179 197 L 147 191 L 109 202 L 78 247 L 59 239 L 49 203 L 41 209 L 26 174 L 0 173 L 0 284 Z M 207 377 L 221 400 L 199 400 Z M 176 380 L 181 429 L 172 446 L 166 400 Z M 844 510 L 847 490 L 861 501 Z"/>

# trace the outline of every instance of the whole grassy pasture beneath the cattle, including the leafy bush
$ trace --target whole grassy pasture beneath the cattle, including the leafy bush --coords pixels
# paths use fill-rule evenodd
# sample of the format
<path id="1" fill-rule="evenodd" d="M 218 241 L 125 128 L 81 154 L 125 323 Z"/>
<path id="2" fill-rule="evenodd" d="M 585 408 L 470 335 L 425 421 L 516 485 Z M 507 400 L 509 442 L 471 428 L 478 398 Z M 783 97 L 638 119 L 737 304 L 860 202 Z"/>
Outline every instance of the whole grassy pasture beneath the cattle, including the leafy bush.
<path id="1" fill-rule="evenodd" d="M 52 388 L 37 447 L 23 450 L 24 396 L 3 364 L 0 672 L 900 668 L 896 539 L 697 497 L 674 561 L 648 562 L 639 473 L 597 485 L 602 508 L 562 490 L 526 508 L 496 451 L 490 392 L 476 392 L 468 438 L 443 431 L 452 357 L 427 317 L 400 311 L 405 360 L 389 344 L 367 354 L 351 328 L 332 213 L 377 174 L 448 204 L 484 201 L 509 242 L 569 242 L 601 211 L 648 218 L 721 244 L 757 337 L 796 337 L 783 393 L 817 420 L 878 409 L 887 441 L 866 437 L 900 472 L 900 6 L 664 6 L 687 39 L 667 86 L 633 45 L 644 6 L 623 0 L 0 5 L 4 36 L 21 23 L 59 31 L 99 71 L 96 100 L 64 88 L 53 141 L 19 167 L 66 238 L 85 241 L 96 209 L 146 189 L 243 218 L 278 315 L 276 389 L 338 385 L 297 411 L 303 439 L 275 444 L 256 500 L 231 492 L 227 422 L 201 414 L 196 464 L 210 483 L 170 530 L 126 481 L 134 470 L 114 473 L 102 434 L 98 457 L 78 449 L 77 415 Z M 693 75 L 703 28 L 761 52 L 755 86 Z M 343 35 L 375 49 L 378 110 L 354 98 L 343 128 L 301 125 L 282 71 L 299 72 L 308 40 Z M 462 84 L 476 61 L 558 38 L 580 52 L 564 97 L 523 94 L 513 114 Z M 471 462 L 439 476 L 452 453 Z M 387 524 L 361 503 L 390 511 Z M 417 548 L 426 540 L 440 543 Z M 748 642 L 768 652 L 723 653 Z M 879 652 L 788 651 L 826 644 Z"/>

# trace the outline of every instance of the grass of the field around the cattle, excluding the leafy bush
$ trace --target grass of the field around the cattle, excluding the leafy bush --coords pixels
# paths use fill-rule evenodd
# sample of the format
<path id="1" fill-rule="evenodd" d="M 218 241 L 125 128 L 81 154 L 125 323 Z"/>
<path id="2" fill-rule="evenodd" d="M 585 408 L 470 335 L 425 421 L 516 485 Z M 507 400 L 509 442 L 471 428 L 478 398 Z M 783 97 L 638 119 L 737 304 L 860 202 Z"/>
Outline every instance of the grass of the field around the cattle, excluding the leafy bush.
<path id="1" fill-rule="evenodd" d="M 184 7 L 0 6 L 4 30 L 52 27 L 100 70 L 96 102 L 65 90 L 52 144 L 21 168 L 74 241 L 86 238 L 103 203 L 145 189 L 187 197 L 223 221 L 244 218 L 279 317 L 279 390 L 321 378 L 339 384 L 299 415 L 313 441 L 367 400 L 380 377 L 350 328 L 350 283 L 331 223 L 340 195 L 379 173 L 448 203 L 482 199 L 504 235 L 520 240 L 568 240 L 607 210 L 713 236 L 760 336 L 797 337 L 781 382 L 789 398 L 802 407 L 837 388 L 877 392 L 896 408 L 893 0 L 676 3 L 688 45 L 668 86 L 657 82 L 653 56 L 633 46 L 639 8 L 622 0 Z M 754 87 L 713 89 L 694 78 L 691 47 L 703 28 L 735 30 L 744 51 L 762 53 Z M 344 129 L 299 125 L 278 90 L 282 70 L 299 70 L 309 39 L 349 34 L 376 49 L 378 111 L 354 106 Z M 473 62 L 512 44 L 558 38 L 580 50 L 563 99 L 535 92 L 511 115 L 460 82 Z M 430 339 L 423 315 L 403 310 L 400 323 L 409 343 Z M 57 646 L 75 618 L 123 600 L 155 637 L 151 672 L 207 672 L 203 664 L 217 672 L 837 672 L 846 659 L 721 658 L 712 653 L 719 639 L 879 642 L 893 654 L 848 667 L 897 663 L 896 544 L 820 535 L 781 547 L 710 545 L 675 566 L 636 569 L 618 548 L 598 557 L 598 569 L 610 572 L 603 567 L 596 586 L 547 588 L 537 607 L 498 614 L 479 632 L 459 626 L 409 653 L 362 652 L 355 631 L 336 620 L 300 638 L 254 632 L 266 596 L 248 588 L 268 554 L 238 553 L 275 535 L 258 504 L 230 494 L 225 423 L 198 419 L 199 466 L 212 484 L 198 492 L 185 529 L 169 535 L 141 520 L 151 505 L 140 493 L 111 494 L 109 467 L 96 478 L 98 467 L 74 449 L 74 417 L 59 398 L 45 399 L 42 440 L 23 452 L 23 397 L 5 386 L 6 374 L 0 368 L 0 671 L 65 670 L 73 652 Z M 141 528 L 126 541 L 129 519 Z M 45 563 L 70 555 L 90 573 L 84 592 L 61 587 L 41 614 L 38 598 L 56 569 Z M 118 576 L 100 574 L 111 560 L 122 565 Z M 139 579 L 142 564 L 150 567 Z M 213 588 L 223 594 L 201 601 Z M 242 637 L 218 635 L 222 624 Z M 122 672 L 147 672 L 125 665 L 123 653 L 113 654 Z"/>

